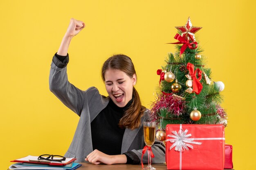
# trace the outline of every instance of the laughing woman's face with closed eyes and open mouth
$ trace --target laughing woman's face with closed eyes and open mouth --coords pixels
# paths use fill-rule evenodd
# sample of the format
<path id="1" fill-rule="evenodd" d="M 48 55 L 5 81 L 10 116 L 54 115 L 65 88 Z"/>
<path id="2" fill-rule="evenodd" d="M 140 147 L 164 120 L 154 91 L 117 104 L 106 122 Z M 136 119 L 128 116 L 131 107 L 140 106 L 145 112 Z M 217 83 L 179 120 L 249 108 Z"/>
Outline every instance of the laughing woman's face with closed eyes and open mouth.
<path id="1" fill-rule="evenodd" d="M 106 90 L 118 107 L 124 107 L 132 99 L 132 89 L 136 81 L 136 74 L 130 78 L 121 70 L 109 69 L 105 73 Z"/>

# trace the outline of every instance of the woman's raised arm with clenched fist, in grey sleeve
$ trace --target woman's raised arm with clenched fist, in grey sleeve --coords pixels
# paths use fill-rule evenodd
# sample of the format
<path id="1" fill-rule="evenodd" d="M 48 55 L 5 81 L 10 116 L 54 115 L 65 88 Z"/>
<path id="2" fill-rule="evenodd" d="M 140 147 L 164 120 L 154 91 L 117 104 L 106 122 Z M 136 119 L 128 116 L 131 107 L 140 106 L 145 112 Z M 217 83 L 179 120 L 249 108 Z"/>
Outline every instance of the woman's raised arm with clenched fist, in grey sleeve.
<path id="1" fill-rule="evenodd" d="M 83 103 L 85 102 L 85 92 L 76 88 L 68 81 L 66 65 L 69 60 L 67 50 L 70 41 L 84 27 L 85 24 L 82 21 L 78 21 L 73 18 L 70 20 L 70 24 L 57 52 L 58 55 L 67 57 L 63 61 L 60 61 L 56 55 L 54 56 L 49 76 L 50 91 L 79 116 L 81 114 Z"/>

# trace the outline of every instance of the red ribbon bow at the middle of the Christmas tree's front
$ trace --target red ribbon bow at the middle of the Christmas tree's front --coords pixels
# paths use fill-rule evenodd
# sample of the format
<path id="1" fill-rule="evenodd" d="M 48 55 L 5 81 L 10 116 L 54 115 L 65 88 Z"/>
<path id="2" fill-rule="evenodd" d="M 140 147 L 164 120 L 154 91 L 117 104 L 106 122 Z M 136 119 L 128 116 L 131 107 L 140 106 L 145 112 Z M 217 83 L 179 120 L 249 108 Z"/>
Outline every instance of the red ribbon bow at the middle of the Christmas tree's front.
<path id="1" fill-rule="evenodd" d="M 189 70 L 189 74 L 193 80 L 193 92 L 195 92 L 195 94 L 200 94 L 203 88 L 203 85 L 200 83 L 200 80 L 202 79 L 202 71 L 199 68 L 194 71 L 194 65 L 191 63 L 187 63 L 186 68 Z M 196 77 L 197 73 L 198 78 Z"/>

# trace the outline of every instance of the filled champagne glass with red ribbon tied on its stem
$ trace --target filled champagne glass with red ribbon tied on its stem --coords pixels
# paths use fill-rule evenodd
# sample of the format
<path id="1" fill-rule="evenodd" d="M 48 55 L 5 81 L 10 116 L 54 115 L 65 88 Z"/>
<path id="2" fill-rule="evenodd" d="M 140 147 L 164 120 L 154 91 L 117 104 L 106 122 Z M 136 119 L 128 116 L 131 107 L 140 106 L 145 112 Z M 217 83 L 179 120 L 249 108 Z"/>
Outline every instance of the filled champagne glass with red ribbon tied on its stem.
<path id="1" fill-rule="evenodd" d="M 155 142 L 155 122 L 143 122 L 144 142 L 147 146 L 152 146 Z M 151 166 L 151 149 L 148 149 L 148 166 L 143 169 L 155 170 Z"/>

